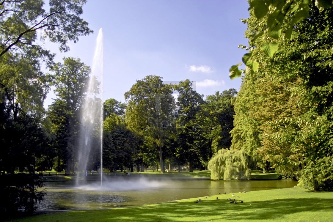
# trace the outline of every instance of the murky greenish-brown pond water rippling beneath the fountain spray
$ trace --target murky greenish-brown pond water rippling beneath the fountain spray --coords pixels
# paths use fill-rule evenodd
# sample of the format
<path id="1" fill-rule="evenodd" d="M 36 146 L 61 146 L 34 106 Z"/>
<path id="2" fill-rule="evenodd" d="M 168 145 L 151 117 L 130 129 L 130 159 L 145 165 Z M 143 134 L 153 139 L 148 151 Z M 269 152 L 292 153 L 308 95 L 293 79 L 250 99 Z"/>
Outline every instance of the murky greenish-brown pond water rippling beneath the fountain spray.
<path id="1" fill-rule="evenodd" d="M 212 181 L 202 179 L 152 180 L 148 178 L 115 178 L 103 181 L 46 182 L 44 200 L 37 210 L 84 210 L 110 209 L 160 203 L 207 195 L 218 192 L 238 193 L 239 191 L 268 190 L 293 187 L 293 180 L 246 180 Z"/>

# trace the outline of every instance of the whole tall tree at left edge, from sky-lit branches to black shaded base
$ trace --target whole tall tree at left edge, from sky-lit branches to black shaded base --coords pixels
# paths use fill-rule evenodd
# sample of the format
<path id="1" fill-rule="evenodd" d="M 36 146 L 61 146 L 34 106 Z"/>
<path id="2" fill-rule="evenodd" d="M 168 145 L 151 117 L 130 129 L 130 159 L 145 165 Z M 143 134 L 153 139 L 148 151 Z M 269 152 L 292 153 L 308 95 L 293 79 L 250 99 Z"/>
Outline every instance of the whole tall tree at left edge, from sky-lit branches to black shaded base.
<path id="1" fill-rule="evenodd" d="M 85 1 L 49 3 L 46 12 L 41 0 L 0 2 L 0 128 L 2 150 L 6 150 L 0 165 L 6 165 L 1 167 L 1 181 L 6 181 L 2 184 L 3 193 L 12 200 L 5 201 L 2 196 L 6 206 L 2 205 L 1 210 L 33 211 L 44 193 L 36 192 L 41 183 L 33 172 L 46 155 L 52 156 L 48 149 L 50 136 L 42 128 L 47 125 L 43 102 L 50 79 L 41 67 L 43 63 L 47 67 L 53 65 L 54 54 L 43 48 L 43 40 L 59 43 L 60 50 L 66 52 L 68 41 L 76 42 L 79 36 L 92 33 L 88 23 L 80 18 Z M 16 168 L 30 172 L 29 178 L 24 174 L 3 176 Z"/>

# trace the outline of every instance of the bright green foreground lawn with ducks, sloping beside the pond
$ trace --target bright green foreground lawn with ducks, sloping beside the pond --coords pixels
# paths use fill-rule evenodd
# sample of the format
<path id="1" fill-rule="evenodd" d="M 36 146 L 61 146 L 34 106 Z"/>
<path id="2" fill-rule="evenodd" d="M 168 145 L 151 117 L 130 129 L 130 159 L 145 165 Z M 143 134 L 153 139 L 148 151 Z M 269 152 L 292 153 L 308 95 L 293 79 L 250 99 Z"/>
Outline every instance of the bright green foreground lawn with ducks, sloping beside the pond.
<path id="1" fill-rule="evenodd" d="M 195 199 L 114 208 L 47 213 L 12 221 L 333 221 L 333 192 L 312 192 L 301 188 L 235 193 Z"/>

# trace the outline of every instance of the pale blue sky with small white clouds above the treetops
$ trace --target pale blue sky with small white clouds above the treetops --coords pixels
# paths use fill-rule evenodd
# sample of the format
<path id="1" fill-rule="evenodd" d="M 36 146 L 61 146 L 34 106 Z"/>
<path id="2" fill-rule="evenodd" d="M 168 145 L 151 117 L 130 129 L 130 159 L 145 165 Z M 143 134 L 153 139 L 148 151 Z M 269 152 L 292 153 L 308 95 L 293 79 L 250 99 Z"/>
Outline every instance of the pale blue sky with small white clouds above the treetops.
<path id="1" fill-rule="evenodd" d="M 248 18 L 246 0 L 88 0 L 81 16 L 94 34 L 83 36 L 70 52 L 57 52 L 56 62 L 79 57 L 92 66 L 98 30 L 104 34 L 103 100 L 125 102 L 124 93 L 147 75 L 164 81 L 196 81 L 205 96 L 229 88 L 241 79 L 229 79 L 229 68 L 245 53 Z M 50 93 L 45 105 L 55 96 Z"/>

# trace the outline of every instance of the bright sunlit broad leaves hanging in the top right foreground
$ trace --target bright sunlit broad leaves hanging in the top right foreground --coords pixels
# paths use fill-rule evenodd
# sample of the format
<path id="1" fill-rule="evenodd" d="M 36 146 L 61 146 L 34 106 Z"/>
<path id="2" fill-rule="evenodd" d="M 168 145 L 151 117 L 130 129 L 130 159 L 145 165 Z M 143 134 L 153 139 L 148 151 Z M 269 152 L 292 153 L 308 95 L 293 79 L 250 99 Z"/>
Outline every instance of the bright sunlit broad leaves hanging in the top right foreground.
<path id="1" fill-rule="evenodd" d="M 257 25 L 264 27 L 259 32 L 255 32 L 250 42 L 254 42 L 258 38 L 263 38 L 263 41 L 260 45 L 257 45 L 255 51 L 260 49 L 264 55 L 269 58 L 272 58 L 274 53 L 278 50 L 279 43 L 274 40 L 279 40 L 282 33 L 284 33 L 283 38 L 293 40 L 295 25 L 297 26 L 309 18 L 309 10 L 313 4 L 312 1 L 309 0 L 251 0 L 249 3 L 249 10 L 253 9 L 252 13 L 257 19 Z M 319 9 L 319 12 L 323 12 L 324 9 L 331 8 L 333 2 L 331 0 L 316 0 L 315 6 Z M 246 23 L 247 20 L 242 20 L 242 22 Z M 254 30 L 252 29 L 252 31 Z M 252 58 L 252 55 L 249 57 Z M 248 60 L 250 58 L 248 58 Z M 263 59 L 258 61 L 259 63 L 263 62 Z M 243 63 L 245 63 L 247 74 L 253 75 L 254 72 L 256 72 L 257 66 L 251 67 L 248 66 L 246 62 L 243 61 Z M 241 71 L 238 70 L 238 66 L 241 64 L 242 63 L 231 66 L 229 73 L 231 80 L 241 76 Z"/>

